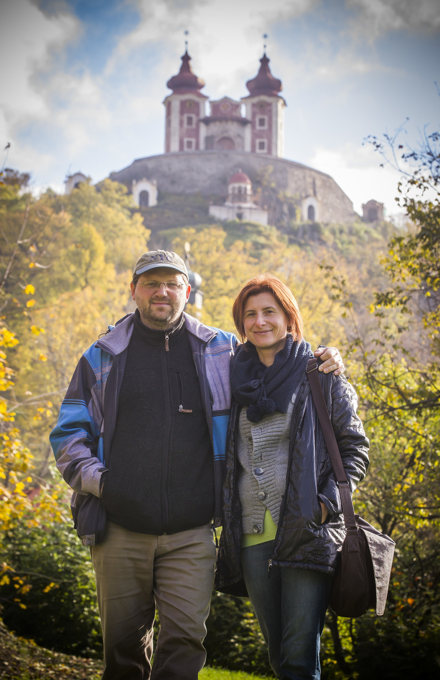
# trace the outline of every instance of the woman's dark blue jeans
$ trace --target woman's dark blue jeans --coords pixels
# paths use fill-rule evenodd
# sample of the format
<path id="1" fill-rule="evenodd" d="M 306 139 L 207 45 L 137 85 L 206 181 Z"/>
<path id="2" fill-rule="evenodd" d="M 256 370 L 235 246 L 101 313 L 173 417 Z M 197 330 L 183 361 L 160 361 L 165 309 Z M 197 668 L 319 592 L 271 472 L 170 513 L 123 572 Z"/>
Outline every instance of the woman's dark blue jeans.
<path id="1" fill-rule="evenodd" d="M 274 541 L 241 551 L 244 582 L 269 648 L 269 661 L 282 680 L 319 680 L 319 647 L 332 578 L 313 569 L 274 567 Z"/>

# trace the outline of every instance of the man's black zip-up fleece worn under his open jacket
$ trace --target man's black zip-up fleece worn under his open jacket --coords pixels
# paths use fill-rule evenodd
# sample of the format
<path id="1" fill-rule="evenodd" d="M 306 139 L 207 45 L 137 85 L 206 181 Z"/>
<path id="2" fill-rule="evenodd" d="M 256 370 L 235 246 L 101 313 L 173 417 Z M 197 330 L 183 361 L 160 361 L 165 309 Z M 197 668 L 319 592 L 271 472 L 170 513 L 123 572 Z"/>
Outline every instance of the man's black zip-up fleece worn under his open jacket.
<path id="1" fill-rule="evenodd" d="M 136 310 L 106 464 L 111 522 L 173 534 L 212 519 L 213 449 L 183 318 L 166 334 L 147 328 Z"/>

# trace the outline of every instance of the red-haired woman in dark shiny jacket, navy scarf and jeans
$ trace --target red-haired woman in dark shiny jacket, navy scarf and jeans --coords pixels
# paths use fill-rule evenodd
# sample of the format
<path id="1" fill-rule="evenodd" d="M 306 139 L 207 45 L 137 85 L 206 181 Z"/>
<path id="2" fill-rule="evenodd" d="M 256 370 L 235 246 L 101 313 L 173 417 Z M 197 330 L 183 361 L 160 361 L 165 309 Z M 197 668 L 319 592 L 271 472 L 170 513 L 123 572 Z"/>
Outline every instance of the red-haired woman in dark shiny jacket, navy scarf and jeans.
<path id="1" fill-rule="evenodd" d="M 320 677 L 319 639 L 344 540 L 342 506 L 306 377 L 313 356 L 291 290 L 251 279 L 232 310 L 232 365 L 223 531 L 215 588 L 249 594 L 276 677 Z M 320 373 L 351 490 L 369 441 L 344 375 Z"/>

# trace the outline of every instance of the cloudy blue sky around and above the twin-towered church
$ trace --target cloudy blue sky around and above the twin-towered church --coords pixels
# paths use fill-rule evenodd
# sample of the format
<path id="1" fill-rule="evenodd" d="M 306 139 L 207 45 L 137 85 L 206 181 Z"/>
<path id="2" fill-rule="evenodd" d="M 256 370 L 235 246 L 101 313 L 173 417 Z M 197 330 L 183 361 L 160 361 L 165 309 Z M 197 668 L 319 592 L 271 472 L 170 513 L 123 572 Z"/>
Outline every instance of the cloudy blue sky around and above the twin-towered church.
<path id="1" fill-rule="evenodd" d="M 0 166 L 9 142 L 6 167 L 63 191 L 69 173 L 98 182 L 163 153 L 184 31 L 212 99 L 248 94 L 265 42 L 285 158 L 329 173 L 359 213 L 397 212 L 399 173 L 364 140 L 439 129 L 440 0 L 0 0 Z"/>

